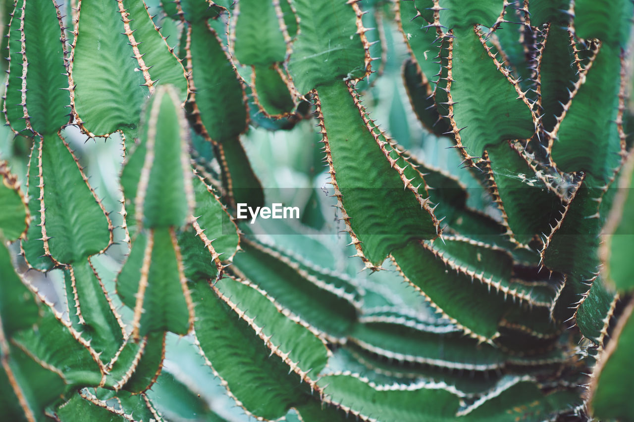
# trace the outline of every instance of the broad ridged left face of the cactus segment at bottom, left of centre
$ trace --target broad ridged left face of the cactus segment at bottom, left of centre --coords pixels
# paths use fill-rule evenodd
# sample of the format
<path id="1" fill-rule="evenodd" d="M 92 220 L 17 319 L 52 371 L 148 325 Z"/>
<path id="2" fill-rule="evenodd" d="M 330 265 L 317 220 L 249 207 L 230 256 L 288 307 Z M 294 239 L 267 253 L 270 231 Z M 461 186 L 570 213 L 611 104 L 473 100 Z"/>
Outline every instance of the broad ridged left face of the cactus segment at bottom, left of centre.
<path id="1" fill-rule="evenodd" d="M 223 279 L 216 285 L 228 283 L 237 282 Z M 219 297 L 221 291 L 217 287 L 209 288 L 205 282 L 195 283 L 192 290 L 196 303 L 198 342 L 212 368 L 226 382 L 236 400 L 257 416 L 276 419 L 284 416 L 290 407 L 309 399 L 309 385 L 301 383 L 299 374 L 292 370 L 289 373 L 292 368 L 280 357 L 280 351 L 271 354 L 271 339 L 265 343 L 261 331 L 256 332 L 253 322 L 249 323 L 251 318 L 242 316 L 242 311 L 236 314 L 236 310 L 232 309 L 230 298 Z M 266 298 L 261 296 L 259 302 L 263 304 L 264 301 Z M 245 309 L 249 310 L 250 306 L 245 306 Z M 310 333 L 306 331 L 306 335 Z M 275 337 L 272 339 L 274 342 Z"/>

